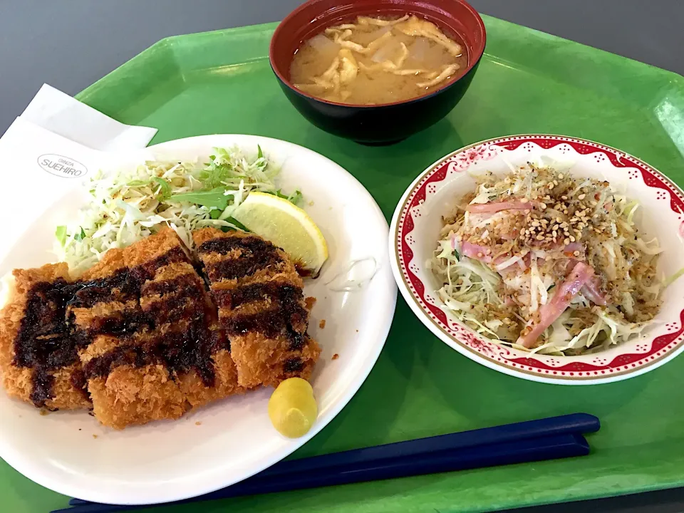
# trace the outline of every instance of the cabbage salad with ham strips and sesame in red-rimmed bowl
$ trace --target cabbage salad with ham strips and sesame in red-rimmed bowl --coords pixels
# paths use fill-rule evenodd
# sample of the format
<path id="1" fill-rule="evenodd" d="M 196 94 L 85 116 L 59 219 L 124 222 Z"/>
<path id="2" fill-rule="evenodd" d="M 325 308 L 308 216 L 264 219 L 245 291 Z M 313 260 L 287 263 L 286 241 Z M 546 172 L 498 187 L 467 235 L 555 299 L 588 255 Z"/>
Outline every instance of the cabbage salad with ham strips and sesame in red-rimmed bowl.
<path id="1" fill-rule="evenodd" d="M 427 262 L 445 309 L 492 341 L 556 356 L 641 336 L 668 282 L 638 202 L 530 163 L 475 178 Z"/>

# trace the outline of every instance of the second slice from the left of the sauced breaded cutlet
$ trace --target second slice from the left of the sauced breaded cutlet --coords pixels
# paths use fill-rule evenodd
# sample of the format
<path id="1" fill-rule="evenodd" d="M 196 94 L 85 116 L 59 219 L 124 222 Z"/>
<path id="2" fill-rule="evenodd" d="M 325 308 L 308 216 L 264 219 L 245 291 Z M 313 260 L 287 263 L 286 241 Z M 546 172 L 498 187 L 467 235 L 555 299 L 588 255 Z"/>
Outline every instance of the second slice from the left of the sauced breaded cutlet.
<path id="1" fill-rule="evenodd" d="M 93 413 L 100 423 L 117 429 L 179 418 L 187 410 L 163 363 L 138 354 L 151 321 L 140 308 L 141 270 L 128 265 L 129 250 L 135 252 L 135 244 L 110 249 L 84 274 L 69 309 Z"/>

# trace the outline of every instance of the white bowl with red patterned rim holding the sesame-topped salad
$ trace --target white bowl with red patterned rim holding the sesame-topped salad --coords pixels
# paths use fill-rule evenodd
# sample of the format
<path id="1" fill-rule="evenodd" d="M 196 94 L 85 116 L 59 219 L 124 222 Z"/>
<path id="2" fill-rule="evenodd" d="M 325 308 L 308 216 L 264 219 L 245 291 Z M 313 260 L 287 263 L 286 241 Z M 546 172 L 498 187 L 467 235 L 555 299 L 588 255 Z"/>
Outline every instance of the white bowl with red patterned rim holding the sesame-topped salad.
<path id="1" fill-rule="evenodd" d="M 477 142 L 427 168 L 401 198 L 390 226 L 390 261 L 399 289 L 432 333 L 473 361 L 496 371 L 544 383 L 586 385 L 646 373 L 684 350 L 684 278 L 665 289 L 663 308 L 641 339 L 583 356 L 546 356 L 507 348 L 460 323 L 442 307 L 435 277 L 425 262 L 458 197 L 475 190 L 469 172 L 504 175 L 509 163 L 539 157 L 572 162 L 573 175 L 608 180 L 642 207 L 637 223 L 657 237 L 663 254 L 658 271 L 671 276 L 684 267 L 684 195 L 645 162 L 596 142 L 556 135 L 515 135 Z"/>

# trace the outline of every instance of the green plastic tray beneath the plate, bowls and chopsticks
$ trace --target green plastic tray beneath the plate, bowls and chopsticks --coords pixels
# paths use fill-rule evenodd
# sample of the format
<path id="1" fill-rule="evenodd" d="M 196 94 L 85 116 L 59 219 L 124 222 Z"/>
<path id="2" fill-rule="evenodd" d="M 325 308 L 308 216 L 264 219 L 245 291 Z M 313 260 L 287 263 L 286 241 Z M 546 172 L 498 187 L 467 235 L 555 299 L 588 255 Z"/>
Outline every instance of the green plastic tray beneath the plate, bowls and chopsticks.
<path id="1" fill-rule="evenodd" d="M 487 51 L 459 105 L 390 147 L 335 138 L 287 102 L 267 58 L 275 24 L 168 38 L 78 98 L 152 142 L 212 133 L 266 135 L 330 157 L 361 180 L 390 219 L 427 165 L 458 147 L 516 133 L 574 135 L 641 157 L 684 185 L 684 78 L 484 17 Z M 325 177 L 321 177 L 324 180 Z M 393 328 L 351 403 L 294 457 L 584 411 L 598 415 L 592 454 L 150 512 L 482 512 L 684 484 L 684 357 L 638 378 L 570 387 L 480 366 L 432 336 L 398 301 Z M 3 511 L 46 512 L 66 497 L 0 462 Z"/>

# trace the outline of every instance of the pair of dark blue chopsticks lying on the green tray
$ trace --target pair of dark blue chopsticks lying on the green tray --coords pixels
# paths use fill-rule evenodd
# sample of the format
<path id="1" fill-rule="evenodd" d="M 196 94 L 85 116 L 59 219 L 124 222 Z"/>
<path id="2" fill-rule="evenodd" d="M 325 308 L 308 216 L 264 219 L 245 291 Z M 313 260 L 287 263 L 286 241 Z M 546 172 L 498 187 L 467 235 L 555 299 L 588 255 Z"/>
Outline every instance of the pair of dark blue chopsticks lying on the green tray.
<path id="1" fill-rule="evenodd" d="M 289 460 L 230 487 L 172 504 L 582 456 L 589 454 L 589 445 L 581 433 L 599 427 L 593 415 L 575 413 Z M 70 504 L 74 507 L 53 513 L 113 513 L 144 507 L 81 499 L 71 499 Z"/>

